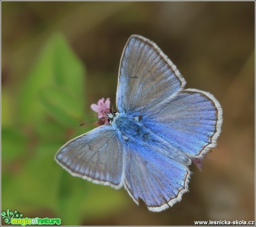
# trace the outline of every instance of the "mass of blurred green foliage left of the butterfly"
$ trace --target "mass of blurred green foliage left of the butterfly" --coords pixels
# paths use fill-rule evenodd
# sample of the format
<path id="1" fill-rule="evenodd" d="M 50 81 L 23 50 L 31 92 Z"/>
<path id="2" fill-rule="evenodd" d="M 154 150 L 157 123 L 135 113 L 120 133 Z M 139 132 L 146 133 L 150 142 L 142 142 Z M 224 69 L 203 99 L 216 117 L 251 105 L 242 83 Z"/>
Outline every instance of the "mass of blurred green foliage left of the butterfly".
<path id="1" fill-rule="evenodd" d="M 78 127 L 91 120 L 84 115 L 84 89 L 80 60 L 60 34 L 52 36 L 14 97 L 19 101 L 15 123 L 4 115 L 2 208 L 37 216 L 46 209 L 62 224 L 81 225 L 124 205 L 122 191 L 75 178 L 54 160 L 61 145 L 91 129 Z M 3 107 L 6 113 L 9 106 Z"/>

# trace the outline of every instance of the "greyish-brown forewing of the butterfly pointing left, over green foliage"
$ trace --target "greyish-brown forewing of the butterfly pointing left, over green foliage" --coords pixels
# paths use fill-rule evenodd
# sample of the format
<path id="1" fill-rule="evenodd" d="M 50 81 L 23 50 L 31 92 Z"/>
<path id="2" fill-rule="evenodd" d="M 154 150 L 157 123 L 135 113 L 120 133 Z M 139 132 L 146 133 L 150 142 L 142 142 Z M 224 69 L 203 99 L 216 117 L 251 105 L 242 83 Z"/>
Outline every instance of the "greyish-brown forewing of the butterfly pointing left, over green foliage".
<path id="1" fill-rule="evenodd" d="M 112 125 L 102 125 L 71 140 L 55 159 L 72 175 L 114 188 L 122 186 L 122 145 Z"/>

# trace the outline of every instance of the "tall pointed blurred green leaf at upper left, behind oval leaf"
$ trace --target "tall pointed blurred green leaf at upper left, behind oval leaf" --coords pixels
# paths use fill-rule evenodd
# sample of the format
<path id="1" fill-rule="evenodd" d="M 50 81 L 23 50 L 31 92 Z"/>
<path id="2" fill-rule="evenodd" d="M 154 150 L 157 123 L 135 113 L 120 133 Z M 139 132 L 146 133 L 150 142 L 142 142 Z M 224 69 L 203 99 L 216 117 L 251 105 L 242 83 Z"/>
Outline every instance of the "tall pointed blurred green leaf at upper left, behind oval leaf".
<path id="1" fill-rule="evenodd" d="M 78 97 L 83 108 L 83 65 L 60 34 L 55 34 L 48 40 L 22 85 L 19 97 L 19 120 L 22 123 L 35 125 L 38 119 L 44 118 L 39 92 L 56 85 L 70 92 L 73 97 Z"/>

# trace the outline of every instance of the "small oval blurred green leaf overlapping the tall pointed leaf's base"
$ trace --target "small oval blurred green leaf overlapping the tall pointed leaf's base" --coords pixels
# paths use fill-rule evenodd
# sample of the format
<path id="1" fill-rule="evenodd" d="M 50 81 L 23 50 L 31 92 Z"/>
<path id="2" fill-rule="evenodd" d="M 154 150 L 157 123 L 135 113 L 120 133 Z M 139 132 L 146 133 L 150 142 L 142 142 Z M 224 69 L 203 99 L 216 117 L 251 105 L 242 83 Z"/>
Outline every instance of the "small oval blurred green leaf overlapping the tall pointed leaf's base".
<path id="1" fill-rule="evenodd" d="M 44 88 L 40 92 L 41 102 L 47 112 L 66 126 L 76 126 L 83 116 L 82 99 L 64 87 Z"/>

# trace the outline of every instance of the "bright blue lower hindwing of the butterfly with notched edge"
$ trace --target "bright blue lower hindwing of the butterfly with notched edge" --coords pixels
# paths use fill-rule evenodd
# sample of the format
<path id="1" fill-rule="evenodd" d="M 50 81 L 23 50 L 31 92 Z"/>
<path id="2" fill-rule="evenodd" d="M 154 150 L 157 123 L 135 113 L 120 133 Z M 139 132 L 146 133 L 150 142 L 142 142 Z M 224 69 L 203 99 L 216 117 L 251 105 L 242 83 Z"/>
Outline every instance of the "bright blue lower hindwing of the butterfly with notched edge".
<path id="1" fill-rule="evenodd" d="M 188 191 L 188 168 L 143 145 L 124 147 L 125 189 L 136 204 L 142 199 L 151 211 L 162 211 L 180 201 Z"/>

